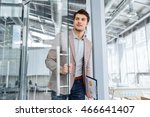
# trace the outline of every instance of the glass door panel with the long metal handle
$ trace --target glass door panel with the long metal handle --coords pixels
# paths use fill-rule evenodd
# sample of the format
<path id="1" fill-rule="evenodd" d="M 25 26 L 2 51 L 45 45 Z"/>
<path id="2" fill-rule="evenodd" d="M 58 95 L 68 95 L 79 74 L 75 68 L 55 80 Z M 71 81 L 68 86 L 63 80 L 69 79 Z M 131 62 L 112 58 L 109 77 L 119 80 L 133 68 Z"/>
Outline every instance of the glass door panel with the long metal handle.
<path id="1" fill-rule="evenodd" d="M 60 67 L 69 62 L 67 4 L 67 0 L 31 0 L 30 2 L 27 69 L 28 99 L 30 100 L 51 99 L 52 88 L 48 87 L 50 86 L 49 82 L 51 81 L 52 86 L 57 89 L 57 85 L 59 85 L 57 78 L 60 77 L 62 80 L 59 72 Z M 66 39 L 66 42 L 63 42 L 66 44 L 64 47 L 59 46 L 62 43 L 61 38 L 56 39 L 58 34 L 62 32 L 64 32 L 63 36 Z M 52 58 L 47 58 L 50 51 L 54 52 L 53 60 L 55 63 L 52 63 Z M 48 68 L 45 65 L 45 59 Z M 63 64 L 62 60 L 64 61 Z M 63 80 L 65 79 L 64 84 L 61 84 L 60 81 L 62 87 L 68 85 L 69 76 L 66 75 L 65 77 L 63 78 Z M 68 94 L 68 87 L 59 89 L 60 92 L 58 89 L 56 91 L 57 95 L 64 89 Z"/>

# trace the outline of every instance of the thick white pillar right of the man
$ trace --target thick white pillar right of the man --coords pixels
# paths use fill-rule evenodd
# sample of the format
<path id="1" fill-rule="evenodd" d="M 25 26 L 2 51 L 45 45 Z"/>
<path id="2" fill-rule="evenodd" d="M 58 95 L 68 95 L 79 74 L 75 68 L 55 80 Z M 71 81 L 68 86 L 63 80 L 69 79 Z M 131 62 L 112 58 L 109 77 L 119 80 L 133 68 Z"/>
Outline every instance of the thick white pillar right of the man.
<path id="1" fill-rule="evenodd" d="M 91 29 L 93 40 L 93 71 L 98 81 L 98 99 L 109 99 L 106 51 L 104 0 L 91 1 Z"/>

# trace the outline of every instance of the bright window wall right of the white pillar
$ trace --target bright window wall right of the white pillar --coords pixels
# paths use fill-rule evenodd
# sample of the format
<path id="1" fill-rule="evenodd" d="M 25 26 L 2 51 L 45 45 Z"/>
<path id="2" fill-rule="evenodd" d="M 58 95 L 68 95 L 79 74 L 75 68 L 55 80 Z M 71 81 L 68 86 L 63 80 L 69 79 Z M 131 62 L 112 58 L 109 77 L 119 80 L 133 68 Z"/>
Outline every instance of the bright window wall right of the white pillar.
<path id="1" fill-rule="evenodd" d="M 109 76 L 115 86 L 150 88 L 149 29 L 148 18 L 124 34 L 123 38 L 118 38 L 116 42 L 108 44 Z M 112 53 L 112 51 L 115 52 Z M 112 61 L 111 64 L 110 61 Z M 119 64 L 116 64 L 116 61 Z M 118 66 L 119 69 L 114 70 L 113 66 Z M 112 70 L 114 71 L 112 72 Z M 117 75 L 114 78 L 112 74 L 116 73 Z M 115 79 L 119 74 L 120 82 L 118 83 Z M 112 86 L 112 83 L 110 86 Z M 143 94 L 145 93 L 150 92 L 144 91 Z"/>

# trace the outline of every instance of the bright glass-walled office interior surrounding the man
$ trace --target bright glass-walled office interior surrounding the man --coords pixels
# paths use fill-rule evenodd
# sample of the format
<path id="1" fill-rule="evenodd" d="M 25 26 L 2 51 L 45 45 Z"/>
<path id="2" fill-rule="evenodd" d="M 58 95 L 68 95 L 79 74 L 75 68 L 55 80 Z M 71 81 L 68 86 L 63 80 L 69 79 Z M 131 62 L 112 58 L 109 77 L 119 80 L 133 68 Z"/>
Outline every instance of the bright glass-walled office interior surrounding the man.
<path id="1" fill-rule="evenodd" d="M 0 0 L 1 100 L 51 100 L 45 59 L 79 9 L 90 14 L 98 100 L 150 99 L 150 0 Z"/>

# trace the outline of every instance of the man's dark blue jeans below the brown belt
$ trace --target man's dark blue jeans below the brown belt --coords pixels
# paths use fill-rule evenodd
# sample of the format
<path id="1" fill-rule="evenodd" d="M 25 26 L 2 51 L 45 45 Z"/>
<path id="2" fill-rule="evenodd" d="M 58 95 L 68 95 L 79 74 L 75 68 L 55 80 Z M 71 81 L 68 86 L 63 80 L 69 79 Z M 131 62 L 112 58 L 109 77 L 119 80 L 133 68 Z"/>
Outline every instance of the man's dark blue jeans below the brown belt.
<path id="1" fill-rule="evenodd" d="M 68 100 L 85 100 L 85 87 L 82 79 L 74 81 L 69 96 L 63 94 L 57 96 L 57 93 L 55 91 L 52 91 L 51 93 L 52 100 L 66 100 L 67 98 Z"/>

